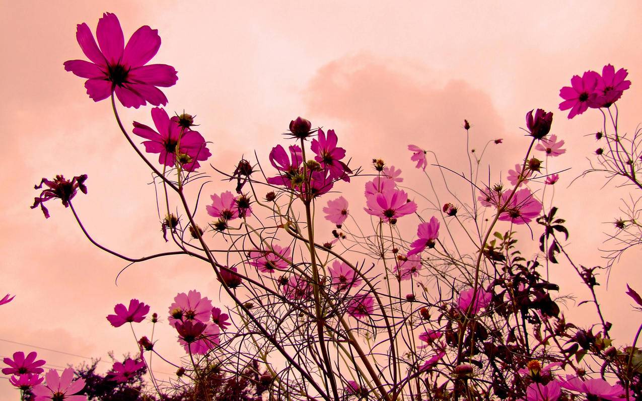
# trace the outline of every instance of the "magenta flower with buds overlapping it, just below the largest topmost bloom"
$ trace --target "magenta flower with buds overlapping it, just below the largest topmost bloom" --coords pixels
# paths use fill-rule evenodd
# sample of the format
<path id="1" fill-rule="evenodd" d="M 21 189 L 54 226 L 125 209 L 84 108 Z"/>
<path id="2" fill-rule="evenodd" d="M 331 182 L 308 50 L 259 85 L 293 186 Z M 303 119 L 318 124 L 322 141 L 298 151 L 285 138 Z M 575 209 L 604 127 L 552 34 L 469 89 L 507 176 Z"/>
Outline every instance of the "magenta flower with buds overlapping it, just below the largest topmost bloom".
<path id="1" fill-rule="evenodd" d="M 169 118 L 167 112 L 160 108 L 152 108 L 152 120 L 158 132 L 145 124 L 134 121 L 132 132 L 141 138 L 147 153 L 159 153 L 159 163 L 174 167 L 177 162 L 187 171 L 200 167 L 199 161 L 205 161 L 212 153 L 202 135 L 197 131 L 182 128 L 178 125 L 178 117 Z"/>

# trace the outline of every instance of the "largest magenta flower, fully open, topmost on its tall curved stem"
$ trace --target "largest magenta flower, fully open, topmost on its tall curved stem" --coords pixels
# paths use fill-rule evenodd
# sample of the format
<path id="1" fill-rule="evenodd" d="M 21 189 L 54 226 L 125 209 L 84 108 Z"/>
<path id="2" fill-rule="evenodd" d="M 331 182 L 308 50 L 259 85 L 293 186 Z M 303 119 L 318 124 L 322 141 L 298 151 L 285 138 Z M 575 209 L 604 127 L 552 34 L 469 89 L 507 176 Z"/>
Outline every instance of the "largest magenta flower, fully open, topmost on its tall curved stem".
<path id="1" fill-rule="evenodd" d="M 87 78 L 85 88 L 94 101 L 116 97 L 125 107 L 139 108 L 149 102 L 167 104 L 165 94 L 157 87 L 171 87 L 178 77 L 174 67 L 165 64 L 145 65 L 160 47 L 158 30 L 141 26 L 127 42 L 116 15 L 103 13 L 98 20 L 96 45 L 94 35 L 84 22 L 76 26 L 76 40 L 85 56 L 91 60 L 69 60 L 65 71 Z"/>

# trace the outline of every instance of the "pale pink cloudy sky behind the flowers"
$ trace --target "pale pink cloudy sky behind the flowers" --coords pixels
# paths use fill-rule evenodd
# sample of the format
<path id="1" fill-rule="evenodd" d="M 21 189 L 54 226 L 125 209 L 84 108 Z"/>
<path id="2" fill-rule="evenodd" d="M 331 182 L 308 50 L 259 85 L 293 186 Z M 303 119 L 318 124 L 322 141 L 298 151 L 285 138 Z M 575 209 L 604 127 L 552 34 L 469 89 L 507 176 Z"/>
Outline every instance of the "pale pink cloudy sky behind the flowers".
<path id="1" fill-rule="evenodd" d="M 605 233 L 613 233 L 609 222 L 620 217 L 627 192 L 612 184 L 600 189 L 605 180 L 599 175 L 568 187 L 589 166 L 587 157 L 598 145 L 586 135 L 600 129 L 602 117 L 589 111 L 569 121 L 557 110 L 559 89 L 587 69 L 601 71 L 608 63 L 629 69 L 632 87 L 618 105 L 621 130 L 636 128 L 642 104 L 638 2 L 0 3 L 0 296 L 17 294 L 0 307 L 0 356 L 37 350 L 48 366 L 59 368 L 83 361 L 11 341 L 103 359 L 110 350 L 133 352 L 132 333 L 105 320 L 115 303 L 130 298 L 149 303 L 162 317 L 173 296 L 189 289 L 220 306 L 220 286 L 204 264 L 178 257 L 146 262 L 128 269 L 116 286 L 125 264 L 86 241 L 70 210 L 52 201 L 45 220 L 29 209 L 37 195 L 33 184 L 43 176 L 86 173 L 89 194 L 74 205 L 98 241 L 133 256 L 169 249 L 160 236 L 153 187 L 146 185 L 150 173 L 119 133 L 110 104 L 89 99 L 83 80 L 62 65 L 85 58 L 76 24 L 87 22 L 94 31 L 103 12 L 116 13 L 125 40 L 145 24 L 159 30 L 162 46 L 152 62 L 178 71 L 177 85 L 164 90 L 167 108 L 197 115 L 199 131 L 213 142 L 209 161 L 228 171 L 254 149 L 265 165 L 269 149 L 284 142 L 280 133 L 289 121 L 303 115 L 336 130 L 351 165 L 390 160 L 408 185 L 428 193 L 406 146 L 434 150 L 442 164 L 464 169 L 462 124 L 468 119 L 473 147 L 503 139 L 487 157 L 492 180 L 505 180 L 528 145 L 519 130 L 525 113 L 552 110 L 551 133 L 567 149 L 553 166 L 571 168 L 555 192 L 569 221 L 568 249 L 580 264 L 603 264 L 596 249 L 607 247 Z M 151 121 L 149 107 L 124 110 L 121 117 L 127 127 L 134 119 Z M 226 190 L 233 190 L 227 182 L 208 187 L 208 193 Z M 351 202 L 358 211 L 363 199 Z M 618 345 L 632 341 L 632 322 L 639 321 L 624 294 L 626 282 L 642 289 L 639 257 L 639 249 L 627 253 L 612 269 L 609 286 L 597 289 Z M 562 292 L 587 299 L 568 266 L 555 269 L 551 279 L 564 280 Z M 578 321 L 593 319 L 589 304 L 569 308 Z M 161 326 L 157 349 L 179 357 L 169 325 Z M 140 325 L 137 336 L 149 328 Z M 160 364 L 153 370 L 174 371 Z M 18 397 L 4 378 L 0 395 Z"/>

